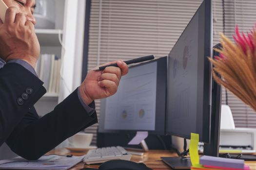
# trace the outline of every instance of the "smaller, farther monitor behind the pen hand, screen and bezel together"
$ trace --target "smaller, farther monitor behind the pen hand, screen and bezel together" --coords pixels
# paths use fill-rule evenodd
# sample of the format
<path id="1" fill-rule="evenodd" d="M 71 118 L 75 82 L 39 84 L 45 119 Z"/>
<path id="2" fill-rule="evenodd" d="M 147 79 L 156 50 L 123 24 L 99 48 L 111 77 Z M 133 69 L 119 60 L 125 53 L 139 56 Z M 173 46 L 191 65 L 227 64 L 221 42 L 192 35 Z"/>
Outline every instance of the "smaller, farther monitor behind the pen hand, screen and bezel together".
<path id="1" fill-rule="evenodd" d="M 165 134 L 167 57 L 132 66 L 115 95 L 101 100 L 100 133 Z"/>

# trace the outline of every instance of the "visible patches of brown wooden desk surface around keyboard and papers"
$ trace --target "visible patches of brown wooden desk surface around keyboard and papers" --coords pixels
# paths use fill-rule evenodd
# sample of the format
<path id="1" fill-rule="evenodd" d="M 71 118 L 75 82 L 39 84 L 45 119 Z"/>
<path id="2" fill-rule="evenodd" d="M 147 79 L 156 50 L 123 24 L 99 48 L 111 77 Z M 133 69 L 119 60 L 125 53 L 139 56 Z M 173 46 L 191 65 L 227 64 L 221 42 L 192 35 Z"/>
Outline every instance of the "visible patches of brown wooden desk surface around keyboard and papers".
<path id="1" fill-rule="evenodd" d="M 57 149 L 54 151 L 49 152 L 49 154 L 59 154 L 59 155 L 84 155 L 86 153 L 71 153 L 66 149 Z M 177 156 L 176 153 L 171 153 L 169 151 L 162 151 L 162 150 L 151 150 L 148 153 L 145 153 L 143 156 L 132 156 L 131 161 L 137 163 L 144 163 L 149 168 L 153 170 L 171 170 L 164 162 L 161 161 L 160 157 L 167 157 L 167 156 Z M 251 170 L 256 170 L 256 161 L 246 161 L 246 165 L 250 166 Z M 79 163 L 75 167 L 69 170 L 80 170 L 82 168 L 97 168 L 99 165 L 84 165 L 84 163 Z"/>

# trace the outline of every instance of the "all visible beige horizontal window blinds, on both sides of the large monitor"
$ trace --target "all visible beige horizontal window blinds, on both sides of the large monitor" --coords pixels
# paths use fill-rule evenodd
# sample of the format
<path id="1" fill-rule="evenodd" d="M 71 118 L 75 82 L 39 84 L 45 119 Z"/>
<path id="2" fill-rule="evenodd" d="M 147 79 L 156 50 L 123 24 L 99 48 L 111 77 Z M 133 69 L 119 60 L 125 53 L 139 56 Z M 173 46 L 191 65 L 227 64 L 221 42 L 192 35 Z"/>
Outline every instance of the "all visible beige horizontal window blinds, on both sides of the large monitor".
<path id="1" fill-rule="evenodd" d="M 155 54 L 157 58 L 168 55 L 201 2 L 92 0 L 88 70 L 118 59 L 150 54 Z M 249 31 L 256 22 L 255 9 L 255 0 L 213 0 L 213 45 L 219 42 L 219 32 L 223 32 L 223 28 L 230 37 L 236 24 L 241 30 Z M 222 103 L 225 103 L 225 93 L 222 96 Z M 228 99 L 236 127 L 256 126 L 256 114 L 248 106 L 230 93 Z M 96 101 L 96 110 L 99 119 L 99 100 Z M 97 127 L 98 124 L 93 125 L 86 132 L 96 134 Z M 96 137 L 93 144 L 96 144 Z"/>

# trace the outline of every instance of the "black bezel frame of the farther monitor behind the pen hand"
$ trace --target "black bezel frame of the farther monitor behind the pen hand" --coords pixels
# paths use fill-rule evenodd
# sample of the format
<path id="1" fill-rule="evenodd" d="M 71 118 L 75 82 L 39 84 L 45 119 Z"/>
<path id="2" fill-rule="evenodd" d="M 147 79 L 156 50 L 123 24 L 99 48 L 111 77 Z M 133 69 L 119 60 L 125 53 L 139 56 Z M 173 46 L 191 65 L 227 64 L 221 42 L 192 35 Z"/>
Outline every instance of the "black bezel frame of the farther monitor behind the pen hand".
<path id="1" fill-rule="evenodd" d="M 148 133 L 152 135 L 165 135 L 165 103 L 166 103 L 166 81 L 167 81 L 167 56 L 161 57 L 152 61 L 144 62 L 135 66 L 131 66 L 129 68 L 135 68 L 139 66 L 143 66 L 149 63 L 157 62 L 157 100 L 156 100 L 156 121 L 155 126 L 158 124 L 158 128 L 155 130 L 149 130 Z M 100 100 L 100 119 L 98 132 L 100 133 L 126 133 L 126 134 L 135 134 L 137 131 L 145 131 L 145 130 L 106 130 L 104 129 L 104 117 L 102 114 L 105 108 L 107 99 Z M 158 118 L 158 120 L 157 120 Z M 103 121 L 100 121 L 102 120 Z M 158 123 L 163 122 L 163 123 Z"/>

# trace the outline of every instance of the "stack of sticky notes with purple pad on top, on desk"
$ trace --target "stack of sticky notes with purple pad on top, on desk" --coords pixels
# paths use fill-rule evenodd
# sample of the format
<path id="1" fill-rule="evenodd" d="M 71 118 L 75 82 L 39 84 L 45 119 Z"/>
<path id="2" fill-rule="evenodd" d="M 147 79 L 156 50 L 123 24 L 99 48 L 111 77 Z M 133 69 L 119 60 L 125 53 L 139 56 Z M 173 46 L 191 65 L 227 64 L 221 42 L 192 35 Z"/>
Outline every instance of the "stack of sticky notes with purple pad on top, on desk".
<path id="1" fill-rule="evenodd" d="M 244 165 L 244 160 L 221 158 L 213 156 L 200 157 L 200 164 L 191 168 L 192 170 L 250 170 Z"/>

